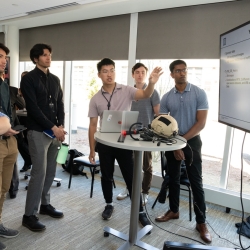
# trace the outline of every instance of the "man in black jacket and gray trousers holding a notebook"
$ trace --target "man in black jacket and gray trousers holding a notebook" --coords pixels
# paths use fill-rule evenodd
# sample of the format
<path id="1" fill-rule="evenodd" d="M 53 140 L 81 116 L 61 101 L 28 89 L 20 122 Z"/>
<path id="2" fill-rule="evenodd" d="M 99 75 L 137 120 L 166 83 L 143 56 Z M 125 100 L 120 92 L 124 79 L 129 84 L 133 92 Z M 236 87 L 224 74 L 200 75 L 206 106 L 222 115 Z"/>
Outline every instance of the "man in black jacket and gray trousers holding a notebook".
<path id="1" fill-rule="evenodd" d="M 64 104 L 60 80 L 49 71 L 52 49 L 47 44 L 36 44 L 30 50 L 35 69 L 21 79 L 21 92 L 26 102 L 29 152 L 32 161 L 31 178 L 26 197 L 23 226 L 31 231 L 46 227 L 36 213 L 54 218 L 63 213 L 50 204 L 50 187 L 56 172 L 56 157 L 65 139 Z M 52 130 L 55 138 L 43 133 Z"/>

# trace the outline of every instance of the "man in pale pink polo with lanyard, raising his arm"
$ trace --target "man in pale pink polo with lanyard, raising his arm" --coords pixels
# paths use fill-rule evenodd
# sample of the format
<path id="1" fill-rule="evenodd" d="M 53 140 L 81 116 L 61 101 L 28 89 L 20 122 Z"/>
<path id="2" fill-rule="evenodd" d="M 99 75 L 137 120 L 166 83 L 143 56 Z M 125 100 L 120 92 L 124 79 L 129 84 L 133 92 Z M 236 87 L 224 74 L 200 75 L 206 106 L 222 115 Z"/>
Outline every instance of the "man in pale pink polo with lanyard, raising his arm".
<path id="1" fill-rule="evenodd" d="M 98 77 L 101 78 L 103 85 L 101 90 L 99 90 L 92 97 L 89 103 L 89 160 L 91 163 L 95 163 L 94 133 L 97 129 L 98 117 L 100 117 L 101 123 L 104 110 L 129 111 L 131 109 L 133 100 L 149 98 L 154 91 L 155 83 L 162 74 L 162 69 L 156 67 L 150 74 L 147 88 L 136 89 L 134 87 L 118 84 L 115 82 L 115 62 L 109 58 L 102 59 L 97 64 L 97 70 Z M 119 164 L 131 197 L 133 179 L 133 151 L 106 146 L 102 143 L 98 143 L 97 150 L 102 173 L 102 191 L 107 204 L 102 213 L 102 218 L 104 220 L 109 220 L 112 217 L 112 213 L 114 211 L 112 181 L 115 159 Z M 143 212 L 141 199 L 139 222 L 143 227 L 150 225 L 146 214 Z"/>

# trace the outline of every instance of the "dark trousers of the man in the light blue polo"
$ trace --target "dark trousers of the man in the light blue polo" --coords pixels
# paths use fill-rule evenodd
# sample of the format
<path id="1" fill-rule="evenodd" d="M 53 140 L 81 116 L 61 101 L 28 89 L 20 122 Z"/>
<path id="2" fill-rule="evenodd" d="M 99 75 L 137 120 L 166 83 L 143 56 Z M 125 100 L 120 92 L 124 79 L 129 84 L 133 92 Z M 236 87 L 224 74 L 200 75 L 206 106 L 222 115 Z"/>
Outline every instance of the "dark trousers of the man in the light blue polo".
<path id="1" fill-rule="evenodd" d="M 193 193 L 196 222 L 200 224 L 205 223 L 206 219 L 205 195 L 202 184 L 202 141 L 198 135 L 188 140 L 187 143 L 190 145 L 192 150 L 188 147 L 188 145 L 182 150 L 185 155 L 187 174 Z M 179 211 L 181 161 L 177 161 L 175 159 L 173 151 L 167 151 L 165 155 L 169 170 L 169 205 L 170 210 L 176 213 Z"/>

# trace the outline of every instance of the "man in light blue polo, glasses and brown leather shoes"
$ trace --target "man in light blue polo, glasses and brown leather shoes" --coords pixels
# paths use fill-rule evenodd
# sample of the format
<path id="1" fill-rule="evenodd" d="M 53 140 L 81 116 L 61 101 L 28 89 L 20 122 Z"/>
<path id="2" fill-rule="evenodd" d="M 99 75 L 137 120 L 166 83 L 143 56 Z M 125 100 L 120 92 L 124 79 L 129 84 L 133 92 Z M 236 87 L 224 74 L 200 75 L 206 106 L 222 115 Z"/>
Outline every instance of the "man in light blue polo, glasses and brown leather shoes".
<path id="1" fill-rule="evenodd" d="M 160 113 L 173 116 L 182 135 L 189 146 L 165 153 L 169 168 L 169 207 L 170 209 L 155 220 L 166 222 L 179 218 L 180 196 L 180 165 L 184 160 L 187 174 L 194 197 L 194 212 L 196 229 L 206 243 L 211 243 L 212 237 L 208 232 L 206 221 L 205 195 L 202 184 L 202 159 L 200 131 L 205 127 L 208 101 L 204 90 L 187 81 L 187 64 L 183 60 L 173 61 L 169 69 L 175 80 L 175 87 L 167 92 L 161 100 Z"/>

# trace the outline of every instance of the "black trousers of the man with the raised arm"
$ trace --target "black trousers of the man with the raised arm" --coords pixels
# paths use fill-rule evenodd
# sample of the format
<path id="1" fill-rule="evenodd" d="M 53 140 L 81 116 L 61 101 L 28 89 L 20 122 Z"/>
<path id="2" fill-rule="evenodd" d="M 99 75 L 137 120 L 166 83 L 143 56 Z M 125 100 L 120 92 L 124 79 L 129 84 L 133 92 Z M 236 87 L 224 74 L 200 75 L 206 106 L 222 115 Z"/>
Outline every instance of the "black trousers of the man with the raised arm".
<path id="1" fill-rule="evenodd" d="M 127 185 L 129 196 L 132 194 L 134 157 L 132 150 L 114 148 L 98 143 L 97 146 L 100 169 L 102 173 L 101 184 L 102 192 L 106 203 L 113 202 L 113 175 L 115 159 L 117 160 L 122 172 L 123 179 Z M 140 212 L 143 211 L 142 199 L 140 197 Z"/>

